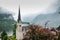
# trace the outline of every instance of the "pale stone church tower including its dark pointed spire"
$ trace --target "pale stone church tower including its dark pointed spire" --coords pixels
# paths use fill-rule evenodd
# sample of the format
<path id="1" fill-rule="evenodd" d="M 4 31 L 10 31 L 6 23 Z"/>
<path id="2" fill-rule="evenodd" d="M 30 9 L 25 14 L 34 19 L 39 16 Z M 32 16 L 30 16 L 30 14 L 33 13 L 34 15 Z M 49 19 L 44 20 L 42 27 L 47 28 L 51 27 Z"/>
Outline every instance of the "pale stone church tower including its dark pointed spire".
<path id="1" fill-rule="evenodd" d="M 22 31 L 22 21 L 21 21 L 21 15 L 20 15 L 20 7 L 19 7 L 19 13 L 18 13 L 18 20 L 17 20 L 16 39 L 17 40 L 23 40 L 23 31 Z"/>

